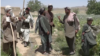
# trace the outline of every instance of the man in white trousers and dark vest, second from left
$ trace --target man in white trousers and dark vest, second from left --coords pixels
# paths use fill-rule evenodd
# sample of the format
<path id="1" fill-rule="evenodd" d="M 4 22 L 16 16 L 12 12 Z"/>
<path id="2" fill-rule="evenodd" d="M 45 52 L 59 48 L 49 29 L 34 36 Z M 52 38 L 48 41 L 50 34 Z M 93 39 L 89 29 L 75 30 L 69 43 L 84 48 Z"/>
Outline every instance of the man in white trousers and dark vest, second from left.
<path id="1" fill-rule="evenodd" d="M 23 32 L 24 47 L 27 47 L 29 43 L 30 26 L 33 28 L 33 16 L 30 14 L 30 8 L 26 8 L 25 13 L 22 13 L 22 19 L 23 22 L 21 32 Z"/>

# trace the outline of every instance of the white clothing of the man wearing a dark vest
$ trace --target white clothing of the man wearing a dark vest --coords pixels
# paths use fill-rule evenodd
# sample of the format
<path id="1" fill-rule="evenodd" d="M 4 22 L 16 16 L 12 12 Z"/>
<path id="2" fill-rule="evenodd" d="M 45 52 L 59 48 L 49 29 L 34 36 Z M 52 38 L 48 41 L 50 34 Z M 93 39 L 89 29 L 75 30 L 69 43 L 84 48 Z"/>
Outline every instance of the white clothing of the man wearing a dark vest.
<path id="1" fill-rule="evenodd" d="M 24 36 L 24 41 L 28 42 L 29 41 L 29 33 L 30 33 L 30 26 L 33 27 L 33 17 L 30 14 L 25 14 L 24 17 L 26 18 L 25 20 L 23 20 L 24 23 L 28 23 L 23 24 L 22 23 L 22 28 L 21 28 L 21 32 L 23 32 L 23 36 Z"/>

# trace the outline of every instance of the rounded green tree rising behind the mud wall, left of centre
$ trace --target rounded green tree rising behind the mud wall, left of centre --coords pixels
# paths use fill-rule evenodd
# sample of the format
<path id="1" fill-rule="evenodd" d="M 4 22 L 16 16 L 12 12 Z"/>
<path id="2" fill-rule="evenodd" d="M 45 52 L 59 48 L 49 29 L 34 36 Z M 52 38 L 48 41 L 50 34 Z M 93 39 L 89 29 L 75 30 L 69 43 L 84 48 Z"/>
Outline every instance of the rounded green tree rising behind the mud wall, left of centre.
<path id="1" fill-rule="evenodd" d="M 27 7 L 31 9 L 31 12 L 38 11 L 41 8 L 41 2 L 38 0 L 30 0 Z"/>

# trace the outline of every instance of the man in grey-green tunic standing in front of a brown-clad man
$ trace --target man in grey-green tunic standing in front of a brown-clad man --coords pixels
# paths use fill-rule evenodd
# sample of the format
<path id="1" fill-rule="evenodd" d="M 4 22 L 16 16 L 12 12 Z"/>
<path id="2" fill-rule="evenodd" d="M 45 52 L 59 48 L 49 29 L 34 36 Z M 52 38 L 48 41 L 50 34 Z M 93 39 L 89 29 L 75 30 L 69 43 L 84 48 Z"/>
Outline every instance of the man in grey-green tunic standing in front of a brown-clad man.
<path id="1" fill-rule="evenodd" d="M 47 41 L 50 41 L 51 38 L 51 33 L 50 33 L 50 24 L 49 20 L 45 17 L 45 8 L 41 8 L 39 10 L 39 18 L 38 18 L 38 28 L 39 28 L 39 35 L 41 37 L 41 42 L 42 42 L 42 47 L 43 47 L 43 54 L 47 52 L 46 48 L 47 46 Z"/>

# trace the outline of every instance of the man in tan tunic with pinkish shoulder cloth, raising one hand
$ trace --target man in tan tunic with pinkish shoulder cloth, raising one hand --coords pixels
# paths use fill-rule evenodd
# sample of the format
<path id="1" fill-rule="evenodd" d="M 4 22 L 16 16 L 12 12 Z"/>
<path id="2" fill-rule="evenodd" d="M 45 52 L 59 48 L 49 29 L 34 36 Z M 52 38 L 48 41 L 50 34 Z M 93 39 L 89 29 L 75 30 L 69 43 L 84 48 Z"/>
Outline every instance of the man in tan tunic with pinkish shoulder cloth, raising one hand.
<path id="1" fill-rule="evenodd" d="M 69 54 L 73 55 L 75 54 L 75 35 L 79 30 L 79 20 L 76 17 L 76 14 L 71 12 L 70 8 L 65 7 L 65 13 L 66 15 L 64 16 L 63 21 L 60 19 L 60 16 L 58 16 L 58 19 L 64 24 L 65 37 L 70 49 Z"/>

